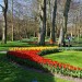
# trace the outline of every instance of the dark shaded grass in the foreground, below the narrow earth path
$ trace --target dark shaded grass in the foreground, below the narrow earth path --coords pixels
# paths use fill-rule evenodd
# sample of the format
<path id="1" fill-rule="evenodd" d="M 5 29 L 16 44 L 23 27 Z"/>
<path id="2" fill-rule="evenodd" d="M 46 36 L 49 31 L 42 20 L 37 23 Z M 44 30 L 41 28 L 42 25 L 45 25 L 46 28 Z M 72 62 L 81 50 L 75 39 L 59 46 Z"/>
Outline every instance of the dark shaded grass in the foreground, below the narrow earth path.
<path id="1" fill-rule="evenodd" d="M 10 62 L 5 54 L 0 54 L 0 82 L 32 82 L 35 79 L 37 82 L 70 82 L 50 74 L 20 68 Z"/>

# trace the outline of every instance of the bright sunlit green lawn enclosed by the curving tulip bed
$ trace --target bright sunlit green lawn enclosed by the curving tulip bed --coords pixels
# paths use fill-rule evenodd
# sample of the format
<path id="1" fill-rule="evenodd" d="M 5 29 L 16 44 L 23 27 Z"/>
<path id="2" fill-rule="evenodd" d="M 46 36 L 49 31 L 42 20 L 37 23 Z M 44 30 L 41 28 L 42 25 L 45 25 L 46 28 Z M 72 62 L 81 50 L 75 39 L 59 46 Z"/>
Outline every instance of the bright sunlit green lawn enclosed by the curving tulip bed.
<path id="1" fill-rule="evenodd" d="M 82 68 L 82 51 L 65 50 L 62 52 L 50 54 L 44 57 Z"/>

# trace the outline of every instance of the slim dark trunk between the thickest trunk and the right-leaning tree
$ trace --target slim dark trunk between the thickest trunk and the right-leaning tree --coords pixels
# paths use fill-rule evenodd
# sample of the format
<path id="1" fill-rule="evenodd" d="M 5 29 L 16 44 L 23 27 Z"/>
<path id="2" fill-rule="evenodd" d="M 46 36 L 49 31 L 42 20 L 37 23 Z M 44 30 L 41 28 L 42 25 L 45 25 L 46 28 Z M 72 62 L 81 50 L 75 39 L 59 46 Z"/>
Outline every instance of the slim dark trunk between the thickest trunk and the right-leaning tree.
<path id="1" fill-rule="evenodd" d="M 52 26 L 51 26 L 51 40 L 56 42 L 56 13 L 57 13 L 57 0 L 55 0 L 54 12 L 52 12 Z"/>

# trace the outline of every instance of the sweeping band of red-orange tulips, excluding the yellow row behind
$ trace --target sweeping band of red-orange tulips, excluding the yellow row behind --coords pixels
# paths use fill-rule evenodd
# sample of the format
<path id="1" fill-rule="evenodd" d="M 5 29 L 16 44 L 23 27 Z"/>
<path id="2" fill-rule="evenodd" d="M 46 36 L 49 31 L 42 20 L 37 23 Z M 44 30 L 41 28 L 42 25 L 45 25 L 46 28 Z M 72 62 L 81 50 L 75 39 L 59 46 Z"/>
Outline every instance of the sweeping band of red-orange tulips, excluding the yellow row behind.
<path id="1" fill-rule="evenodd" d="M 14 56 L 16 58 L 21 58 L 23 60 L 28 59 L 33 62 L 42 65 L 44 68 L 47 68 L 48 70 L 57 73 L 62 73 L 65 75 L 71 75 L 71 77 L 77 77 L 77 78 L 82 78 L 82 69 L 77 68 L 73 66 L 70 66 L 68 63 L 61 63 L 58 61 L 52 61 L 50 59 L 46 59 L 44 57 L 38 56 L 37 54 L 40 50 L 11 50 L 8 51 L 8 57 L 9 56 Z M 31 63 L 32 65 L 32 63 Z"/>

